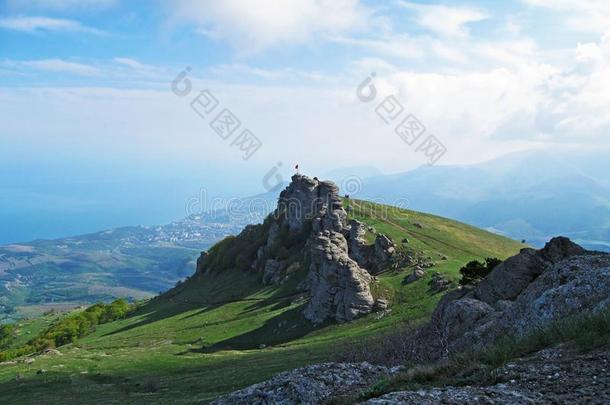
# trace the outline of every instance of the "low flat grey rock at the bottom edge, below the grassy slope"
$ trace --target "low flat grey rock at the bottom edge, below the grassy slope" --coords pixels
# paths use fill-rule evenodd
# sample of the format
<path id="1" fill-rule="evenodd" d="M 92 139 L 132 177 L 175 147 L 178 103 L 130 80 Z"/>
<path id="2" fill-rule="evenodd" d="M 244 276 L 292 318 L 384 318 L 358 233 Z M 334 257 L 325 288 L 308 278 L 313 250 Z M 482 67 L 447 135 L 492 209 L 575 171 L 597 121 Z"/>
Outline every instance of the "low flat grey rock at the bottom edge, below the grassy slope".
<path id="1" fill-rule="evenodd" d="M 213 402 L 229 404 L 320 404 L 359 391 L 388 376 L 392 370 L 368 363 L 327 363 L 282 373 Z"/>

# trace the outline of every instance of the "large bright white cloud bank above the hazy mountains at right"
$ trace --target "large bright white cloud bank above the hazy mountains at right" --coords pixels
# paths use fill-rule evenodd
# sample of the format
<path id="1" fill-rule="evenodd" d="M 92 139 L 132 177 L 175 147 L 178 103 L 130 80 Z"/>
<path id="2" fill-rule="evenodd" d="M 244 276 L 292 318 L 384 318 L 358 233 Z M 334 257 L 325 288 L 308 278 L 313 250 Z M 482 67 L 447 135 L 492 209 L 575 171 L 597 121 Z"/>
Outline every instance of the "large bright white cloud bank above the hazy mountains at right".
<path id="1" fill-rule="evenodd" d="M 380 93 L 397 95 L 455 150 L 494 140 L 610 144 L 610 31 L 579 44 L 566 66 L 544 62 L 527 39 L 467 44 L 455 51 L 470 63 L 452 70 L 386 64 L 379 74 L 374 61 L 361 74 L 376 71 Z"/>

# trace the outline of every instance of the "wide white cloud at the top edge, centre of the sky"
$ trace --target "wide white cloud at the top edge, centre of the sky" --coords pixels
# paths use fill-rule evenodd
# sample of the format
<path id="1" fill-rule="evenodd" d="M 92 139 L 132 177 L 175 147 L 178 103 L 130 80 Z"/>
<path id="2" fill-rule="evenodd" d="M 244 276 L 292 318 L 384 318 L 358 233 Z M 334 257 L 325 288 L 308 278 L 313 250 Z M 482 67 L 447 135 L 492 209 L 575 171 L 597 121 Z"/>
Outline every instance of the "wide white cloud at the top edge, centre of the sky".
<path id="1" fill-rule="evenodd" d="M 340 35 L 369 23 L 359 0 L 177 0 L 175 18 L 204 35 L 226 40 L 244 53 L 280 44 L 302 44 Z"/>

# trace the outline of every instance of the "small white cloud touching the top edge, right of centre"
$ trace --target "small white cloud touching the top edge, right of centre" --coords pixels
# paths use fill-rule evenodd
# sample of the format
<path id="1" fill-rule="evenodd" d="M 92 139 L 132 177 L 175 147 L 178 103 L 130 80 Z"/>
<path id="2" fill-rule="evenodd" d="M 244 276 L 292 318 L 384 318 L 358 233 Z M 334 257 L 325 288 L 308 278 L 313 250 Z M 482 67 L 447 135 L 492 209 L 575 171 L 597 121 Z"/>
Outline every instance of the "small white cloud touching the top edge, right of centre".
<path id="1" fill-rule="evenodd" d="M 468 36 L 468 24 L 489 17 L 487 13 L 472 7 L 424 5 L 406 1 L 401 1 L 398 4 L 404 8 L 415 10 L 418 14 L 417 22 L 419 25 L 446 37 L 466 37 Z"/>

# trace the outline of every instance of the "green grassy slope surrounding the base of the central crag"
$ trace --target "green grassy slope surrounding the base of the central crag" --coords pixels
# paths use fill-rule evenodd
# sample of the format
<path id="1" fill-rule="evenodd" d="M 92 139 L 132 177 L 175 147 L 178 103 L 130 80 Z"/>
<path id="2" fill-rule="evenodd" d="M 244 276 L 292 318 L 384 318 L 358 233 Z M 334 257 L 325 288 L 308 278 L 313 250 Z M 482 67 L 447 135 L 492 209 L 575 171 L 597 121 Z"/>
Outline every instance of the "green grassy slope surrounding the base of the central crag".
<path id="1" fill-rule="evenodd" d="M 447 219 L 350 201 L 351 216 L 430 256 L 457 279 L 461 265 L 487 256 L 505 258 L 522 245 Z M 387 219 L 382 219 L 387 218 Z M 421 228 L 414 224 L 421 224 Z M 371 236 L 371 235 L 369 235 Z M 447 260 L 440 260 L 446 256 Z M 328 360 L 336 345 L 423 321 L 440 298 L 427 276 L 382 274 L 378 291 L 392 312 L 312 329 L 301 318 L 297 280 L 263 287 L 259 276 L 230 271 L 195 277 L 150 301 L 134 316 L 98 327 L 63 356 L 0 365 L 3 403 L 197 403 L 305 364 Z M 265 345 L 263 347 L 262 345 Z M 44 374 L 36 374 L 39 369 Z M 19 374 L 19 381 L 16 376 Z"/>

